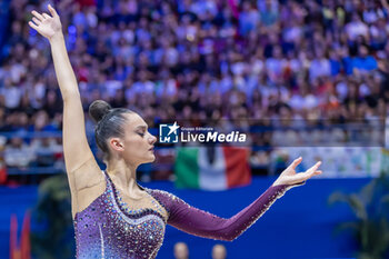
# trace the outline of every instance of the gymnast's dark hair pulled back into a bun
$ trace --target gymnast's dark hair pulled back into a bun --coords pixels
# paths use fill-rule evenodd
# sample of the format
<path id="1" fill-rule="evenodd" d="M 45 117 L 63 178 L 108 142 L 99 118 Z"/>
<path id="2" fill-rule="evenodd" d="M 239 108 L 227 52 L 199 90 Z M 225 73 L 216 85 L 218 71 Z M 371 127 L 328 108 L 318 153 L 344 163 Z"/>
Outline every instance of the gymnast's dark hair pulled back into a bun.
<path id="1" fill-rule="evenodd" d="M 98 147 L 103 151 L 104 159 L 109 158 L 107 140 L 112 137 L 124 137 L 124 124 L 127 122 L 124 113 L 133 111 L 124 108 L 112 108 L 102 100 L 96 100 L 89 106 L 89 116 L 97 123 L 94 138 Z"/>

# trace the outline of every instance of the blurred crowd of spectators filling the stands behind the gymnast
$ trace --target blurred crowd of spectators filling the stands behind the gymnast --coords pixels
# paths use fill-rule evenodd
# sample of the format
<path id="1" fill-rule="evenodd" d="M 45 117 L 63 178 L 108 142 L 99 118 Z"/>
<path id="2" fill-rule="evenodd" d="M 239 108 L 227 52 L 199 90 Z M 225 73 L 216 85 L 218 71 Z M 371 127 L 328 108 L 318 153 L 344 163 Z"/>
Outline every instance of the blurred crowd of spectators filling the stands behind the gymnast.
<path id="1" fill-rule="evenodd" d="M 9 32 L 1 48 L 0 131 L 61 129 L 61 96 L 50 46 L 28 26 L 30 11 L 48 12 L 47 3 L 10 3 Z M 150 128 L 163 120 L 250 119 L 261 124 L 265 119 L 386 118 L 389 13 L 382 4 L 372 0 L 54 2 L 86 111 L 102 99 L 140 111 Z M 61 145 L 56 138 L 20 137 L 8 140 L 6 157 L 31 148 L 30 142 L 56 153 Z"/>

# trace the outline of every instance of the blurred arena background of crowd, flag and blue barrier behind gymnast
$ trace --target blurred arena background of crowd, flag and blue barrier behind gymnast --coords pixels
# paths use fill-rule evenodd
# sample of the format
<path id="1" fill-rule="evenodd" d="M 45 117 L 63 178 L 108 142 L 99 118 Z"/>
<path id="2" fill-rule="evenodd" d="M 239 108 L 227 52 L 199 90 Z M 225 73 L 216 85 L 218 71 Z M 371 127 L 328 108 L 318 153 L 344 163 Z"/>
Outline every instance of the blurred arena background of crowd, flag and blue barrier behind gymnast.
<path id="1" fill-rule="evenodd" d="M 323 175 L 233 242 L 168 227 L 157 258 L 211 258 L 217 243 L 229 259 L 389 258 L 383 0 L 2 0 L 0 258 L 74 258 L 61 94 L 49 42 L 27 23 L 48 3 L 62 21 L 98 159 L 87 112 L 97 99 L 140 112 L 157 137 L 174 121 L 227 121 L 249 136 L 237 148 L 157 145 L 156 162 L 139 168 L 142 186 L 228 218 L 297 157 L 298 171 L 322 161 Z M 233 181 L 192 181 L 192 165 L 207 179 L 220 160 L 235 161 L 218 168 Z"/>

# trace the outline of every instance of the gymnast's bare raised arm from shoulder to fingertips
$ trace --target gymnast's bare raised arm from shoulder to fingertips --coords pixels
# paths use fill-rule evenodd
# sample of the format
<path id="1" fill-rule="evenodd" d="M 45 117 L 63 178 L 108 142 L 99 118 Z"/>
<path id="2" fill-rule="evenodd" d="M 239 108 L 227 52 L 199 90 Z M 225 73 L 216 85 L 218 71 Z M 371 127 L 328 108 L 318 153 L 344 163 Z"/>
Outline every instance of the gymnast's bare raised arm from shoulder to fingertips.
<path id="1" fill-rule="evenodd" d="M 48 8 L 51 16 L 32 11 L 33 18 L 29 26 L 47 38 L 51 46 L 63 99 L 63 155 L 74 217 L 102 193 L 104 178 L 88 145 L 80 92 L 64 46 L 61 21 L 50 4 Z"/>

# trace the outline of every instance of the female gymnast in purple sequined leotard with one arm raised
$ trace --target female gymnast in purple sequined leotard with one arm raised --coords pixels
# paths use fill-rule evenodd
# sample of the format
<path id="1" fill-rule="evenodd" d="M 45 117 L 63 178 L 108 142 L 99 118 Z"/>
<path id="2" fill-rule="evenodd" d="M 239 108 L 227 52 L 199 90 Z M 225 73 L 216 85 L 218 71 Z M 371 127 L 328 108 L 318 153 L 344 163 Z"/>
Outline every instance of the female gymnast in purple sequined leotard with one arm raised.
<path id="1" fill-rule="evenodd" d="M 63 99 L 63 153 L 71 191 L 77 258 L 156 258 L 166 225 L 199 237 L 232 241 L 287 190 L 320 175 L 320 161 L 296 173 L 296 159 L 251 205 L 223 219 L 186 203 L 172 193 L 137 183 L 137 168 L 154 161 L 156 137 L 136 112 L 97 100 L 89 107 L 96 141 L 104 153 L 102 171 L 89 148 L 80 92 L 71 68 L 60 18 L 32 11 L 29 26 L 51 46 Z"/>

